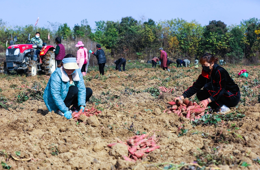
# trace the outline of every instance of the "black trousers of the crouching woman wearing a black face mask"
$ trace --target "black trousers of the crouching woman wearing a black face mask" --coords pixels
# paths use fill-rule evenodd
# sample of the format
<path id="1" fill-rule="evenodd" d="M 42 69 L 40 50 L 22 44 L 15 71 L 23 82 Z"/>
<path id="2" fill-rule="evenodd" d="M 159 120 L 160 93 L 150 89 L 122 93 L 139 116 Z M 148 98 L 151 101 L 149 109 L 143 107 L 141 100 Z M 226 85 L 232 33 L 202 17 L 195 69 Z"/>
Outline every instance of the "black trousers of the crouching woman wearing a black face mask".
<path id="1" fill-rule="evenodd" d="M 214 90 L 217 90 L 217 86 L 212 87 L 211 83 L 207 83 L 204 85 L 203 90 L 199 90 L 197 92 L 196 96 L 200 101 L 202 101 L 211 97 L 214 93 Z M 226 105 L 228 107 L 237 106 L 239 100 L 240 91 L 235 94 L 231 93 L 230 91 L 225 91 L 223 96 L 221 96 L 218 100 L 209 103 L 208 106 L 211 106 L 212 109 L 216 109 L 218 111 L 223 105 Z"/>

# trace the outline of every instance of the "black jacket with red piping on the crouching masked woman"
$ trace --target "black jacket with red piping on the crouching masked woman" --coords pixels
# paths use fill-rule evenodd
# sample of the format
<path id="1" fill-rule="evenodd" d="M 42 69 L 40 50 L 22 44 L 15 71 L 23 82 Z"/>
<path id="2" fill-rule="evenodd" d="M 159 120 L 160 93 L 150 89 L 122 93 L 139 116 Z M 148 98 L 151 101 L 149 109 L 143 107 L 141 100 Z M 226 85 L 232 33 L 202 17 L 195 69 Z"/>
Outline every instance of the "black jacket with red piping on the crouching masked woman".
<path id="1" fill-rule="evenodd" d="M 239 91 L 238 85 L 229 76 L 229 73 L 223 67 L 220 67 L 218 64 L 214 64 L 211 78 L 209 78 L 209 73 L 202 70 L 202 73 L 199 75 L 196 82 L 184 91 L 182 94 L 183 97 L 191 97 L 207 83 L 211 83 L 214 87 L 217 86 L 217 89 L 214 89 L 214 91 L 211 92 L 211 97 L 209 97 L 212 102 L 218 100 L 222 95 L 228 95 L 226 94 L 226 91 L 233 94 L 236 94 Z"/>

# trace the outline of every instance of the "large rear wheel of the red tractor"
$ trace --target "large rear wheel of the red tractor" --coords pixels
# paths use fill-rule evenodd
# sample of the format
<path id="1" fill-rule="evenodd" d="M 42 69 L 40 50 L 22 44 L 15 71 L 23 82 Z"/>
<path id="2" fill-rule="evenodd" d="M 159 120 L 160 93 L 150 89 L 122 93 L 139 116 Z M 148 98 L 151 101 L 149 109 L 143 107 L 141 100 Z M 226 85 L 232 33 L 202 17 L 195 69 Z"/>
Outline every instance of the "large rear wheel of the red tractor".
<path id="1" fill-rule="evenodd" d="M 56 69 L 55 55 L 53 51 L 48 51 L 43 56 L 42 70 L 46 75 L 51 75 Z"/>

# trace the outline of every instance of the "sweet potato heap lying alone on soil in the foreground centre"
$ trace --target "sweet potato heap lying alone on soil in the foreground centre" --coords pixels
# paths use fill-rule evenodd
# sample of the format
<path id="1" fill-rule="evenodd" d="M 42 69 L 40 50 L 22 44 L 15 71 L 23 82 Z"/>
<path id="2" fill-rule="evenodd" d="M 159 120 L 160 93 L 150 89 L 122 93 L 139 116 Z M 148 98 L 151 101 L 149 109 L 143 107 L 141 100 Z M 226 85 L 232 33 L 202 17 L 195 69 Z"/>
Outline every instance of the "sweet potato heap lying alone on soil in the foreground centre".
<path id="1" fill-rule="evenodd" d="M 130 137 L 126 140 L 126 142 L 122 142 L 118 140 L 119 143 L 123 143 L 128 147 L 128 157 L 122 155 L 124 160 L 136 162 L 137 160 L 142 160 L 142 158 L 147 157 L 148 153 L 154 151 L 155 149 L 159 149 L 160 146 L 156 145 L 159 139 L 156 139 L 156 134 L 154 133 L 153 136 L 149 137 L 148 134 L 136 135 Z M 108 144 L 109 148 L 112 148 L 116 143 Z"/>

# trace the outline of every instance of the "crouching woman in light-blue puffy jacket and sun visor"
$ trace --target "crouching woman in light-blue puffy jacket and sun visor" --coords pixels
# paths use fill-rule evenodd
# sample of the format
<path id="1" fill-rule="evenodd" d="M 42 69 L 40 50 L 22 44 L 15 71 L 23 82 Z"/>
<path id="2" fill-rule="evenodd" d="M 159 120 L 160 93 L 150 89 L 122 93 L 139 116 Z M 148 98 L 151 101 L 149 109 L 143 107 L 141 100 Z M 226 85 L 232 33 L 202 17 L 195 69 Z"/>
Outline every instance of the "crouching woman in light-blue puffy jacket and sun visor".
<path id="1" fill-rule="evenodd" d="M 76 57 L 67 54 L 52 73 L 44 90 L 43 99 L 48 110 L 70 119 L 74 109 L 84 109 L 91 96 L 92 90 L 85 88 Z"/>

